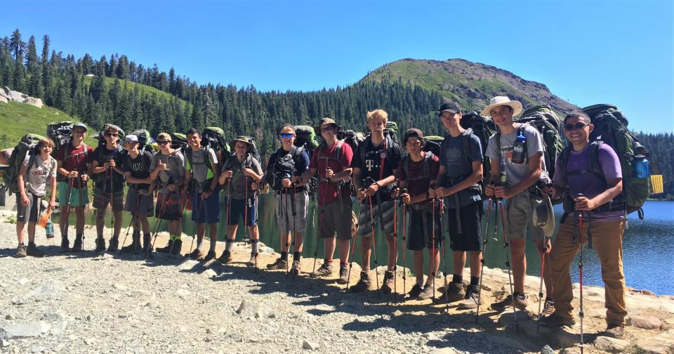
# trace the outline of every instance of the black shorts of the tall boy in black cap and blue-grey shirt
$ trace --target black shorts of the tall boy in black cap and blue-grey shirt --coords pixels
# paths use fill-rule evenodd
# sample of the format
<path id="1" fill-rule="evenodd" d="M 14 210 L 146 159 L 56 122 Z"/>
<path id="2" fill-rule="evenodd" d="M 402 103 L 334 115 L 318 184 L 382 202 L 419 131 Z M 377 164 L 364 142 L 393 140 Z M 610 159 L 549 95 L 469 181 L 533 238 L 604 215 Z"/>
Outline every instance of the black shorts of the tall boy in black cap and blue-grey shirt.
<path id="1" fill-rule="evenodd" d="M 447 209 L 449 248 L 452 251 L 482 251 L 482 200 L 458 208 L 461 228 L 458 227 L 456 209 Z"/>

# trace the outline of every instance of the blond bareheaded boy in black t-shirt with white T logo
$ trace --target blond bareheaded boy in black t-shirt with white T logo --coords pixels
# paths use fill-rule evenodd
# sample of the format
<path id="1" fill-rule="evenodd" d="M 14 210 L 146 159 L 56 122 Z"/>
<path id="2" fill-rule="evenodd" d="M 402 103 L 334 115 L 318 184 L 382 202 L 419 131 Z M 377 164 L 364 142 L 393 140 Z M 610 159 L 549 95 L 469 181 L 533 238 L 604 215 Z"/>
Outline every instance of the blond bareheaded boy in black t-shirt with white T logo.
<path id="1" fill-rule="evenodd" d="M 388 243 L 388 268 L 381 291 L 390 294 L 395 281 L 393 272 L 397 261 L 397 247 L 393 235 L 395 203 L 391 198 L 391 185 L 398 173 L 402 151 L 390 135 L 385 135 L 387 122 L 388 113 L 385 110 L 367 112 L 367 128 L 370 134 L 358 146 L 353 160 L 353 185 L 358 198 L 367 206 L 360 209 L 358 216 L 363 270 L 360 280 L 351 288 L 355 292 L 365 291 L 372 284 L 369 268 L 371 246 L 374 244 L 374 235 L 370 233 L 373 223 L 383 231 Z M 378 284 L 376 285 L 378 287 Z"/>

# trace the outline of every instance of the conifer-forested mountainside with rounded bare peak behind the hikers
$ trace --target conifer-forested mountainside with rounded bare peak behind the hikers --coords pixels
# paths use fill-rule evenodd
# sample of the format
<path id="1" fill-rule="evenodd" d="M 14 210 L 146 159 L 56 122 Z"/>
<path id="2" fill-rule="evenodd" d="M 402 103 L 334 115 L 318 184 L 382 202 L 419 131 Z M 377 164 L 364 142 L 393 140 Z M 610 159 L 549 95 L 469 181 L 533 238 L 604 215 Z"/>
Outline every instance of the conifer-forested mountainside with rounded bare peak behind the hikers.
<path id="1" fill-rule="evenodd" d="M 321 117 L 334 117 L 342 126 L 362 130 L 365 113 L 379 107 L 401 129 L 416 126 L 428 134 L 439 133 L 436 110 L 443 97 L 479 108 L 489 96 L 506 94 L 524 105 L 547 103 L 558 112 L 574 109 L 543 84 L 459 59 L 399 60 L 335 89 L 262 92 L 254 86 L 197 84 L 173 68 L 167 73 L 117 53 L 75 58 L 51 48 L 46 34 L 41 46 L 38 52 L 36 39 L 31 36 L 25 42 L 18 29 L 0 39 L 0 86 L 42 98 L 94 129 L 109 122 L 126 131 L 145 128 L 156 135 L 220 126 L 228 137 L 256 138 L 263 156 L 277 147 L 275 131 L 283 123 L 313 125 Z M 651 149 L 665 180 L 672 181 L 674 137 L 645 134 L 640 139 Z"/>

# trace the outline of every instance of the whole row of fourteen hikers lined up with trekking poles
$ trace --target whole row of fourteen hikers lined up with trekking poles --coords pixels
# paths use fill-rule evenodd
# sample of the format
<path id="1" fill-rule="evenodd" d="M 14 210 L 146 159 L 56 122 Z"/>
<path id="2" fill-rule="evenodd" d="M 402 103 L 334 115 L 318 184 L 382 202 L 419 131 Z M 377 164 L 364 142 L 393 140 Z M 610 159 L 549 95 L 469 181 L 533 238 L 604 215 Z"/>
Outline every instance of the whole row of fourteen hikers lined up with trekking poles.
<path id="1" fill-rule="evenodd" d="M 624 206 L 612 203 L 622 189 L 621 165 L 616 152 L 604 144 L 595 153 L 589 138 L 593 130 L 590 117 L 582 111 L 572 112 L 564 117 L 562 126 L 569 147 L 557 158 L 554 176 L 549 176 L 550 166 L 546 166 L 543 159 L 546 146 L 541 133 L 529 124 L 513 120 L 521 112 L 522 104 L 517 100 L 505 96 L 492 98 L 481 114 L 491 117 L 497 130 L 485 148 L 471 129 L 461 126 L 465 112 L 459 105 L 444 103 L 438 119 L 447 134 L 437 155 L 425 148 L 429 142 L 420 129 L 407 129 L 402 144 L 391 139 L 385 133 L 388 113 L 381 109 L 367 112 L 369 135 L 355 150 L 338 138 L 342 127 L 334 119 L 320 119 L 315 126 L 316 134 L 324 142 L 311 154 L 294 144 L 295 127 L 284 124 L 278 131 L 281 147 L 269 158 L 265 172 L 262 162 L 251 154 L 253 145 L 245 136 L 230 142 L 230 155 L 218 157 L 211 147 L 204 146 L 202 133 L 197 129 L 185 133 L 187 148 L 183 151 L 172 147 L 171 134 L 159 133 L 156 137 L 159 151 L 152 154 L 139 150 L 138 136 L 129 134 L 120 142 L 121 129 L 106 125 L 105 144 L 94 150 L 84 143 L 87 126 L 74 124 L 70 145 L 58 149 L 55 158 L 51 157 L 54 142 L 44 139 L 39 141 L 37 152 L 27 155 L 22 163 L 18 173 L 17 256 L 43 256 L 35 245 L 34 234 L 47 188 L 51 190 L 48 208 L 53 209 L 58 195 L 60 249 L 83 250 L 84 206 L 88 203 L 86 185 L 91 179 L 94 181 L 93 207 L 98 209 L 96 251 L 106 249 L 103 230 L 105 211 L 110 204 L 114 225 L 107 251 L 152 252 L 148 218 L 155 216 L 168 222 L 170 234 L 169 243 L 156 251 L 179 254 L 183 249 L 183 211 L 186 204 L 191 204 L 192 221 L 197 226 L 196 247 L 190 247 L 190 257 L 204 261 L 217 259 L 221 263 L 232 261 L 237 225 L 243 219 L 252 246 L 248 264 L 257 267 L 259 231 L 255 196 L 268 186 L 275 193 L 275 214 L 282 242 L 279 258 L 266 268 L 298 275 L 308 225 L 309 185 L 312 179 L 318 178 L 317 237 L 323 241 L 324 259 L 317 269 L 314 261 L 312 277 L 327 277 L 337 272 L 338 283 L 346 284 L 352 292 L 376 287 L 384 294 L 391 294 L 395 291 L 399 247 L 405 247 L 413 252 L 416 275 L 416 284 L 407 292 L 407 299 L 432 298 L 435 303 L 457 302 L 459 309 L 479 309 L 482 256 L 490 238 L 487 236 L 489 215 L 494 209 L 494 235 L 500 221 L 508 275 L 512 272 L 512 278 L 510 295 L 491 303 L 492 310 L 503 311 L 508 307 L 524 310 L 529 306 L 524 290 L 528 226 L 531 241 L 545 261 L 542 282 L 544 280 L 546 297 L 542 299 L 542 289 L 538 295 L 539 303 L 543 303 L 543 312 L 541 314 L 539 306 L 538 315 L 541 324 L 548 327 L 574 324 L 569 267 L 589 240 L 599 255 L 606 288 L 605 334 L 622 336 L 627 314 L 621 259 L 626 213 Z M 490 162 L 488 171 L 484 169 L 484 155 Z M 597 158 L 601 171 L 592 173 L 588 166 L 591 159 Z M 489 181 L 483 181 L 483 173 L 489 173 Z M 125 182 L 128 184 L 126 199 Z M 224 205 L 220 203 L 222 190 L 227 193 Z M 550 199 L 560 197 L 569 201 L 570 208 L 565 208 L 559 231 L 553 238 L 555 220 Z M 488 199 L 486 216 L 483 199 Z M 353 206 L 357 206 L 357 215 L 352 212 Z M 218 256 L 217 228 L 222 207 L 227 230 L 225 250 Z M 401 207 L 403 230 L 399 232 Z M 72 209 L 77 222 L 71 246 L 67 220 Z M 128 245 L 120 241 L 122 211 L 133 215 L 133 234 Z M 487 230 L 482 229 L 483 216 L 487 218 Z M 24 244 L 26 223 L 27 246 Z M 206 224 L 211 235 L 208 247 L 204 242 Z M 370 262 L 374 253 L 374 268 L 378 265 L 375 228 L 380 228 L 385 235 L 388 249 L 381 283 L 376 270 L 371 270 Z M 400 233 L 402 245 L 398 244 Z M 452 277 L 449 284 L 436 289 L 441 256 L 446 257 L 445 233 L 449 236 L 452 254 Z M 362 271 L 357 283 L 349 287 L 350 265 L 357 242 Z M 333 260 L 335 250 L 338 266 Z M 426 252 L 429 266 L 424 269 Z M 402 252 L 403 258 L 405 253 Z M 463 268 L 467 258 L 470 280 L 465 287 Z M 436 291 L 442 296 L 436 296 Z"/>

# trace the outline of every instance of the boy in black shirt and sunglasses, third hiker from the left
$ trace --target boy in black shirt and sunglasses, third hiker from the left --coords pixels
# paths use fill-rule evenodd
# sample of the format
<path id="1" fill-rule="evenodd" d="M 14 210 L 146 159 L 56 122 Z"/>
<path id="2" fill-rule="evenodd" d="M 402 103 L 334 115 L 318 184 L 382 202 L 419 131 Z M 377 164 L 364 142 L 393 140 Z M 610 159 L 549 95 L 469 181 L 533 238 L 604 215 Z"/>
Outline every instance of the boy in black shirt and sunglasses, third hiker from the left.
<path id="1" fill-rule="evenodd" d="M 103 228 L 105 226 L 105 209 L 110 204 L 114 218 L 112 237 L 107 251 L 119 251 L 119 232 L 121 230 L 122 211 L 124 211 L 124 171 L 120 169 L 119 157 L 123 150 L 119 145 L 121 129 L 112 124 L 105 124 L 103 138 L 105 144 L 99 143 L 91 157 L 91 173 L 94 181 L 93 207 L 96 208 L 96 248 L 105 251 Z"/>

